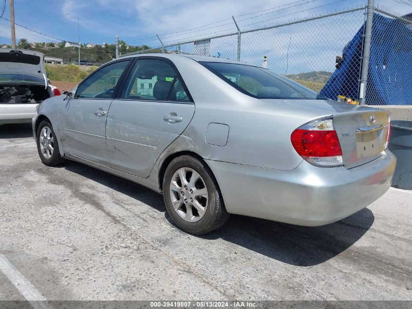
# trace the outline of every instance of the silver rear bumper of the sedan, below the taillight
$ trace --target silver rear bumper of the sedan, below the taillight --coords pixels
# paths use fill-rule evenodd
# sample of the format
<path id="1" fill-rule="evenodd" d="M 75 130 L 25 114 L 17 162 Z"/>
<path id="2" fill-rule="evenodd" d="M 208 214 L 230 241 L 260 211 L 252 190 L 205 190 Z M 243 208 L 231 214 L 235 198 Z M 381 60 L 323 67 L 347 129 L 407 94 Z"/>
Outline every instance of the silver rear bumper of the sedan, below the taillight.
<path id="1" fill-rule="evenodd" d="M 370 205 L 391 186 L 396 158 L 386 150 L 365 165 L 281 171 L 206 160 L 228 212 L 301 226 L 321 226 Z"/>

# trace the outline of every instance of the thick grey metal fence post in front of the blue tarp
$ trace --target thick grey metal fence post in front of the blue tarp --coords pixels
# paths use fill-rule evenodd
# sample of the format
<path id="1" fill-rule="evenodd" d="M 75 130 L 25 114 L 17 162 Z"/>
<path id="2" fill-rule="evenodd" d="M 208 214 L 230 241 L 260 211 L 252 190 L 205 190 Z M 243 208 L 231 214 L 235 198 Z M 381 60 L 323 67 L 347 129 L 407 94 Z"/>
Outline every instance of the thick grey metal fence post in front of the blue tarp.
<path id="1" fill-rule="evenodd" d="M 372 24 L 373 24 L 374 0 L 368 0 L 366 10 L 365 34 L 363 38 L 362 51 L 362 71 L 360 73 L 359 83 L 359 104 L 365 105 L 366 102 L 366 87 L 368 83 L 369 58 L 371 55 L 371 39 L 372 39 Z"/>

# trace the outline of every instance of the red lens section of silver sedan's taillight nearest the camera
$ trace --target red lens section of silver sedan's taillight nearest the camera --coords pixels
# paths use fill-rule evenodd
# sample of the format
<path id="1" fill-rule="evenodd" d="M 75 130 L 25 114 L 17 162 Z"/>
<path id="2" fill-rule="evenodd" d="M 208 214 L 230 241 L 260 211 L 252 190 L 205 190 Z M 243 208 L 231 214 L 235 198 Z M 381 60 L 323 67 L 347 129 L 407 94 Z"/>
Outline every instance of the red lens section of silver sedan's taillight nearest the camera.
<path id="1" fill-rule="evenodd" d="M 296 129 L 291 135 L 292 145 L 302 157 L 341 156 L 339 138 L 334 130 Z"/>

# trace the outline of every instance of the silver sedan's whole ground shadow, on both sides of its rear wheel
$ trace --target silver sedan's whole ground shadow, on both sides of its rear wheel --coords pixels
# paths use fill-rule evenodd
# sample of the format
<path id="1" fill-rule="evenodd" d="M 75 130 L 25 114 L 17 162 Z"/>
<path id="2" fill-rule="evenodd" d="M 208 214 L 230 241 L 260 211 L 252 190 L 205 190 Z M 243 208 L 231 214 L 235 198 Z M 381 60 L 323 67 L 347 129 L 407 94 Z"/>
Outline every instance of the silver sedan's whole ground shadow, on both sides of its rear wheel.
<path id="1" fill-rule="evenodd" d="M 170 224 L 174 225 L 160 194 L 80 163 L 69 161 L 62 167 L 152 206 L 163 212 Z M 231 215 L 223 227 L 196 237 L 205 240 L 220 238 L 283 263 L 308 267 L 326 262 L 351 247 L 369 230 L 373 221 L 373 212 L 368 208 L 322 227 L 300 227 Z"/>

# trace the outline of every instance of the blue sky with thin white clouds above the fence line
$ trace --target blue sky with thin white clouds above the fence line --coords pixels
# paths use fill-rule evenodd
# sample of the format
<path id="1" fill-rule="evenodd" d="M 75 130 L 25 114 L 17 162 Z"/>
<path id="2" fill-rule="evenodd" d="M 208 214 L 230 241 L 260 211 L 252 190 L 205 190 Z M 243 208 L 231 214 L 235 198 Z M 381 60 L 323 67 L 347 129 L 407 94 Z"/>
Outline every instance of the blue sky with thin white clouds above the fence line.
<path id="1" fill-rule="evenodd" d="M 0 0 L 0 14 L 3 1 Z M 77 19 L 71 15 L 65 15 L 65 13 L 70 13 L 79 17 L 80 41 L 82 43 L 113 43 L 115 36 L 118 35 L 120 40 L 132 45 L 147 44 L 149 46 L 159 45 L 156 34 L 159 34 L 162 41 L 167 43 L 178 40 L 184 41 L 186 38 L 191 40 L 197 36 L 215 35 L 216 32 L 233 32 L 235 31 L 235 25 L 231 19 L 232 15 L 235 15 L 235 19 L 239 21 L 240 27 L 246 29 L 351 8 L 366 2 L 367 0 L 14 1 L 15 21 L 17 23 L 59 40 L 78 41 Z M 412 12 L 411 6 L 395 0 L 375 0 L 375 4 L 402 14 Z M 278 8 L 243 15 L 273 7 Z M 267 14 L 251 18 L 264 13 Z M 6 0 L 6 9 L 3 16 L 10 19 L 8 0 Z M 246 18 L 248 19 L 241 21 Z M 272 20 L 265 21 L 269 19 Z M 221 22 L 215 23 L 216 21 Z M 194 29 L 207 24 L 211 25 Z M 175 33 L 188 29 L 193 30 Z M 17 41 L 21 38 L 26 38 L 29 42 L 58 41 L 20 26 L 16 27 L 16 37 Z M 0 19 L 0 43 L 10 44 L 10 22 L 4 19 Z"/>

